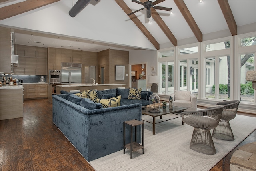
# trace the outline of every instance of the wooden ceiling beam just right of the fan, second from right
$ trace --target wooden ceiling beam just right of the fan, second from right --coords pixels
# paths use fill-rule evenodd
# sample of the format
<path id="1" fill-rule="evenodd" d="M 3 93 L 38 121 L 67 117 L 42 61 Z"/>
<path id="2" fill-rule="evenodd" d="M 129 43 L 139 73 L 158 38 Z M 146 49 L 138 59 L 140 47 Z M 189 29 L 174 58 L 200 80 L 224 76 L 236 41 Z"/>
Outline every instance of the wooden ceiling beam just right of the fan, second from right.
<path id="1" fill-rule="evenodd" d="M 203 41 L 203 34 L 201 30 L 199 29 L 198 25 L 196 24 L 194 18 L 192 17 L 190 11 L 188 10 L 188 7 L 186 6 L 185 2 L 183 0 L 174 0 L 175 4 L 179 8 L 181 14 L 187 21 L 188 25 L 190 26 L 192 32 L 196 36 L 198 42 Z"/>

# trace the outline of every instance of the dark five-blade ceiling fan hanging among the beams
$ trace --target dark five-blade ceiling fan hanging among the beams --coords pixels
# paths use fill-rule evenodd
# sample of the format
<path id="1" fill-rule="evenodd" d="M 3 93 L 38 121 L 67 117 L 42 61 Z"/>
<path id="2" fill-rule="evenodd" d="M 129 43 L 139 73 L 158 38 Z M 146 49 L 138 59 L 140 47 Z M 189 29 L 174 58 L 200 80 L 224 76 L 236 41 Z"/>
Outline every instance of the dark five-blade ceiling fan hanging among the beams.
<path id="1" fill-rule="evenodd" d="M 154 9 L 158 9 L 158 10 L 165 10 L 165 11 L 170 11 L 170 10 L 172 10 L 172 8 L 167 8 L 167 7 L 162 7 L 162 6 L 154 6 L 154 5 L 159 4 L 160 2 L 163 2 L 163 1 L 165 1 L 165 0 L 156 0 L 156 1 L 154 1 L 154 2 L 148 0 L 148 1 L 146 1 L 146 2 L 143 3 L 143 2 L 140 2 L 140 1 L 137 1 L 137 0 L 132 0 L 132 2 L 136 2 L 136 3 L 138 3 L 138 4 L 141 4 L 141 5 L 144 6 L 144 8 L 147 9 L 147 18 L 150 18 L 150 17 L 151 17 L 151 10 L 150 10 L 150 8 L 154 8 Z M 141 8 L 141 9 L 139 9 L 139 10 L 136 10 L 136 11 L 130 13 L 130 14 L 127 14 L 127 15 L 130 16 L 131 14 L 134 14 L 135 12 L 141 11 L 141 10 L 143 10 L 144 8 Z"/>

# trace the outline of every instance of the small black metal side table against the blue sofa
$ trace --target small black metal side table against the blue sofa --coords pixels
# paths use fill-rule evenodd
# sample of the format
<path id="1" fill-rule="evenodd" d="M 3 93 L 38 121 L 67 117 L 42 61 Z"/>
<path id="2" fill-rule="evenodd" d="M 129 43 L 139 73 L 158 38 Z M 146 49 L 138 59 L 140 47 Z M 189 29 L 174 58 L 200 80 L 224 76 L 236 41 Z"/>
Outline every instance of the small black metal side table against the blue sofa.
<path id="1" fill-rule="evenodd" d="M 131 126 L 131 143 L 126 144 L 125 143 L 125 124 L 128 124 Z M 137 128 L 136 126 L 142 125 L 142 145 L 136 142 L 136 134 L 137 134 Z M 133 135 L 133 127 L 135 127 L 135 141 L 132 140 Z M 139 149 L 142 149 L 142 152 L 144 154 L 144 122 L 138 121 L 138 120 L 130 120 L 124 122 L 124 153 L 125 148 L 129 149 L 131 151 L 131 159 L 132 159 L 132 152 L 137 151 Z"/>

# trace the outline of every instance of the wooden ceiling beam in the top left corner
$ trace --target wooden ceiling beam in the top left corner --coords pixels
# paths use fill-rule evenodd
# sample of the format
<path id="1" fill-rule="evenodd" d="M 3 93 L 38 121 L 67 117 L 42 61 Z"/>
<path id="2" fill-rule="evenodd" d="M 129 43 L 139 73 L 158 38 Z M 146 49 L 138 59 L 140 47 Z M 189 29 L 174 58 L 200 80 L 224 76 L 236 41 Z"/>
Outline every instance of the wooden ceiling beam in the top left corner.
<path id="1" fill-rule="evenodd" d="M 0 20 L 52 4 L 59 0 L 27 0 L 0 8 Z"/>

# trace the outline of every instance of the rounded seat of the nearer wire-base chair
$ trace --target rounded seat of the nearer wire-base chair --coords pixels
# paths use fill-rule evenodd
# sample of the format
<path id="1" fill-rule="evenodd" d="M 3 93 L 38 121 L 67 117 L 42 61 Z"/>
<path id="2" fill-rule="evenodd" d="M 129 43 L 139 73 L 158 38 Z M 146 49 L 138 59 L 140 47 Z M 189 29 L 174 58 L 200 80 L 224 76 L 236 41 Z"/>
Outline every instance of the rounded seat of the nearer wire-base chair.
<path id="1" fill-rule="evenodd" d="M 187 116 L 183 119 L 183 122 L 196 128 L 202 129 L 214 129 L 218 122 L 209 116 Z"/>

